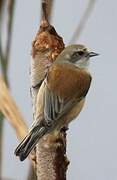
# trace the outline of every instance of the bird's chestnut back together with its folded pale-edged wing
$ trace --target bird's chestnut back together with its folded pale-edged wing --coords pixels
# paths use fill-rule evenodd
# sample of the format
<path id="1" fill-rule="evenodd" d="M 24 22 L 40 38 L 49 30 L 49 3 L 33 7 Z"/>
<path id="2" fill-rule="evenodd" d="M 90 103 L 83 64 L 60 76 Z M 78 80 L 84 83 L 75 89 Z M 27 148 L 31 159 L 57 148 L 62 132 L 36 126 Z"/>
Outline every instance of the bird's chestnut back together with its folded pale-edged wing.
<path id="1" fill-rule="evenodd" d="M 75 66 L 52 66 L 46 79 L 44 119 L 49 126 L 83 99 L 90 87 L 91 76 Z M 74 78 L 73 78 L 74 76 Z"/>

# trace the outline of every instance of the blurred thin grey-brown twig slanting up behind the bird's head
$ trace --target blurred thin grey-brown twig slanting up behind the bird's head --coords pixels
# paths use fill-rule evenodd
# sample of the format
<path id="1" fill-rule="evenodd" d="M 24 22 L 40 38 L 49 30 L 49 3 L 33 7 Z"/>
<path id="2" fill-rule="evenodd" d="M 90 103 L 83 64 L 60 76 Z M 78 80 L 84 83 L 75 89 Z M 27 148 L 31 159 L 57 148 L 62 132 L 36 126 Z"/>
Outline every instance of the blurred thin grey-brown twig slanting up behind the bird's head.
<path id="1" fill-rule="evenodd" d="M 80 23 L 79 23 L 77 29 L 75 30 L 72 38 L 70 39 L 69 44 L 75 42 L 80 37 L 80 35 L 81 35 L 81 33 L 82 33 L 86 23 L 87 23 L 92 11 L 93 11 L 95 3 L 96 3 L 96 0 L 89 0 L 88 5 L 85 9 L 85 12 L 84 12 L 84 14 L 80 20 Z"/>

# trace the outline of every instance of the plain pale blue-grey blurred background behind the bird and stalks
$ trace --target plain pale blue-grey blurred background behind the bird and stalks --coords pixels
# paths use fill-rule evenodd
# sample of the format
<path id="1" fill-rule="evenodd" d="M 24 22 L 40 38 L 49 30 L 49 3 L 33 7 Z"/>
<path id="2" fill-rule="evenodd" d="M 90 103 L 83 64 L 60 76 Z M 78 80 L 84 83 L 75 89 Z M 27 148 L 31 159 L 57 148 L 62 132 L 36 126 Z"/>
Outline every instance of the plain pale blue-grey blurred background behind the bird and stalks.
<path id="1" fill-rule="evenodd" d="M 88 3 L 88 0 L 55 0 L 52 10 L 51 22 L 66 45 L 85 44 L 100 54 L 91 61 L 93 81 L 85 107 L 79 121 L 74 121 L 68 131 L 70 166 L 67 179 L 117 180 L 117 1 L 95 1 L 80 37 L 72 40 Z M 39 0 L 15 2 L 8 80 L 11 94 L 28 125 L 32 122 L 29 91 L 31 43 L 39 29 L 40 10 Z M 4 9 L 6 13 L 7 8 Z M 6 26 L 7 23 L 3 23 L 0 32 L 3 47 Z M 4 120 L 3 179 L 27 178 L 29 161 L 20 162 L 14 156 L 18 143 L 14 129 Z"/>

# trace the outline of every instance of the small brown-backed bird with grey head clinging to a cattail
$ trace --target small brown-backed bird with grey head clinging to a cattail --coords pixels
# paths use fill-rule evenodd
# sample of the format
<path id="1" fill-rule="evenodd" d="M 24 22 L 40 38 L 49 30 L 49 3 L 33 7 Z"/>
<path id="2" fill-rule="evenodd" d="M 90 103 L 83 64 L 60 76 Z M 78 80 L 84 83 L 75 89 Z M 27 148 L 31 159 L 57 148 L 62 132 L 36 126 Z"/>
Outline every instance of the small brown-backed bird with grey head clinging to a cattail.
<path id="1" fill-rule="evenodd" d="M 77 119 L 92 81 L 90 59 L 97 55 L 82 44 L 73 44 L 67 46 L 50 66 L 37 94 L 35 121 L 15 149 L 15 155 L 21 161 L 42 137 L 54 136 Z"/>

